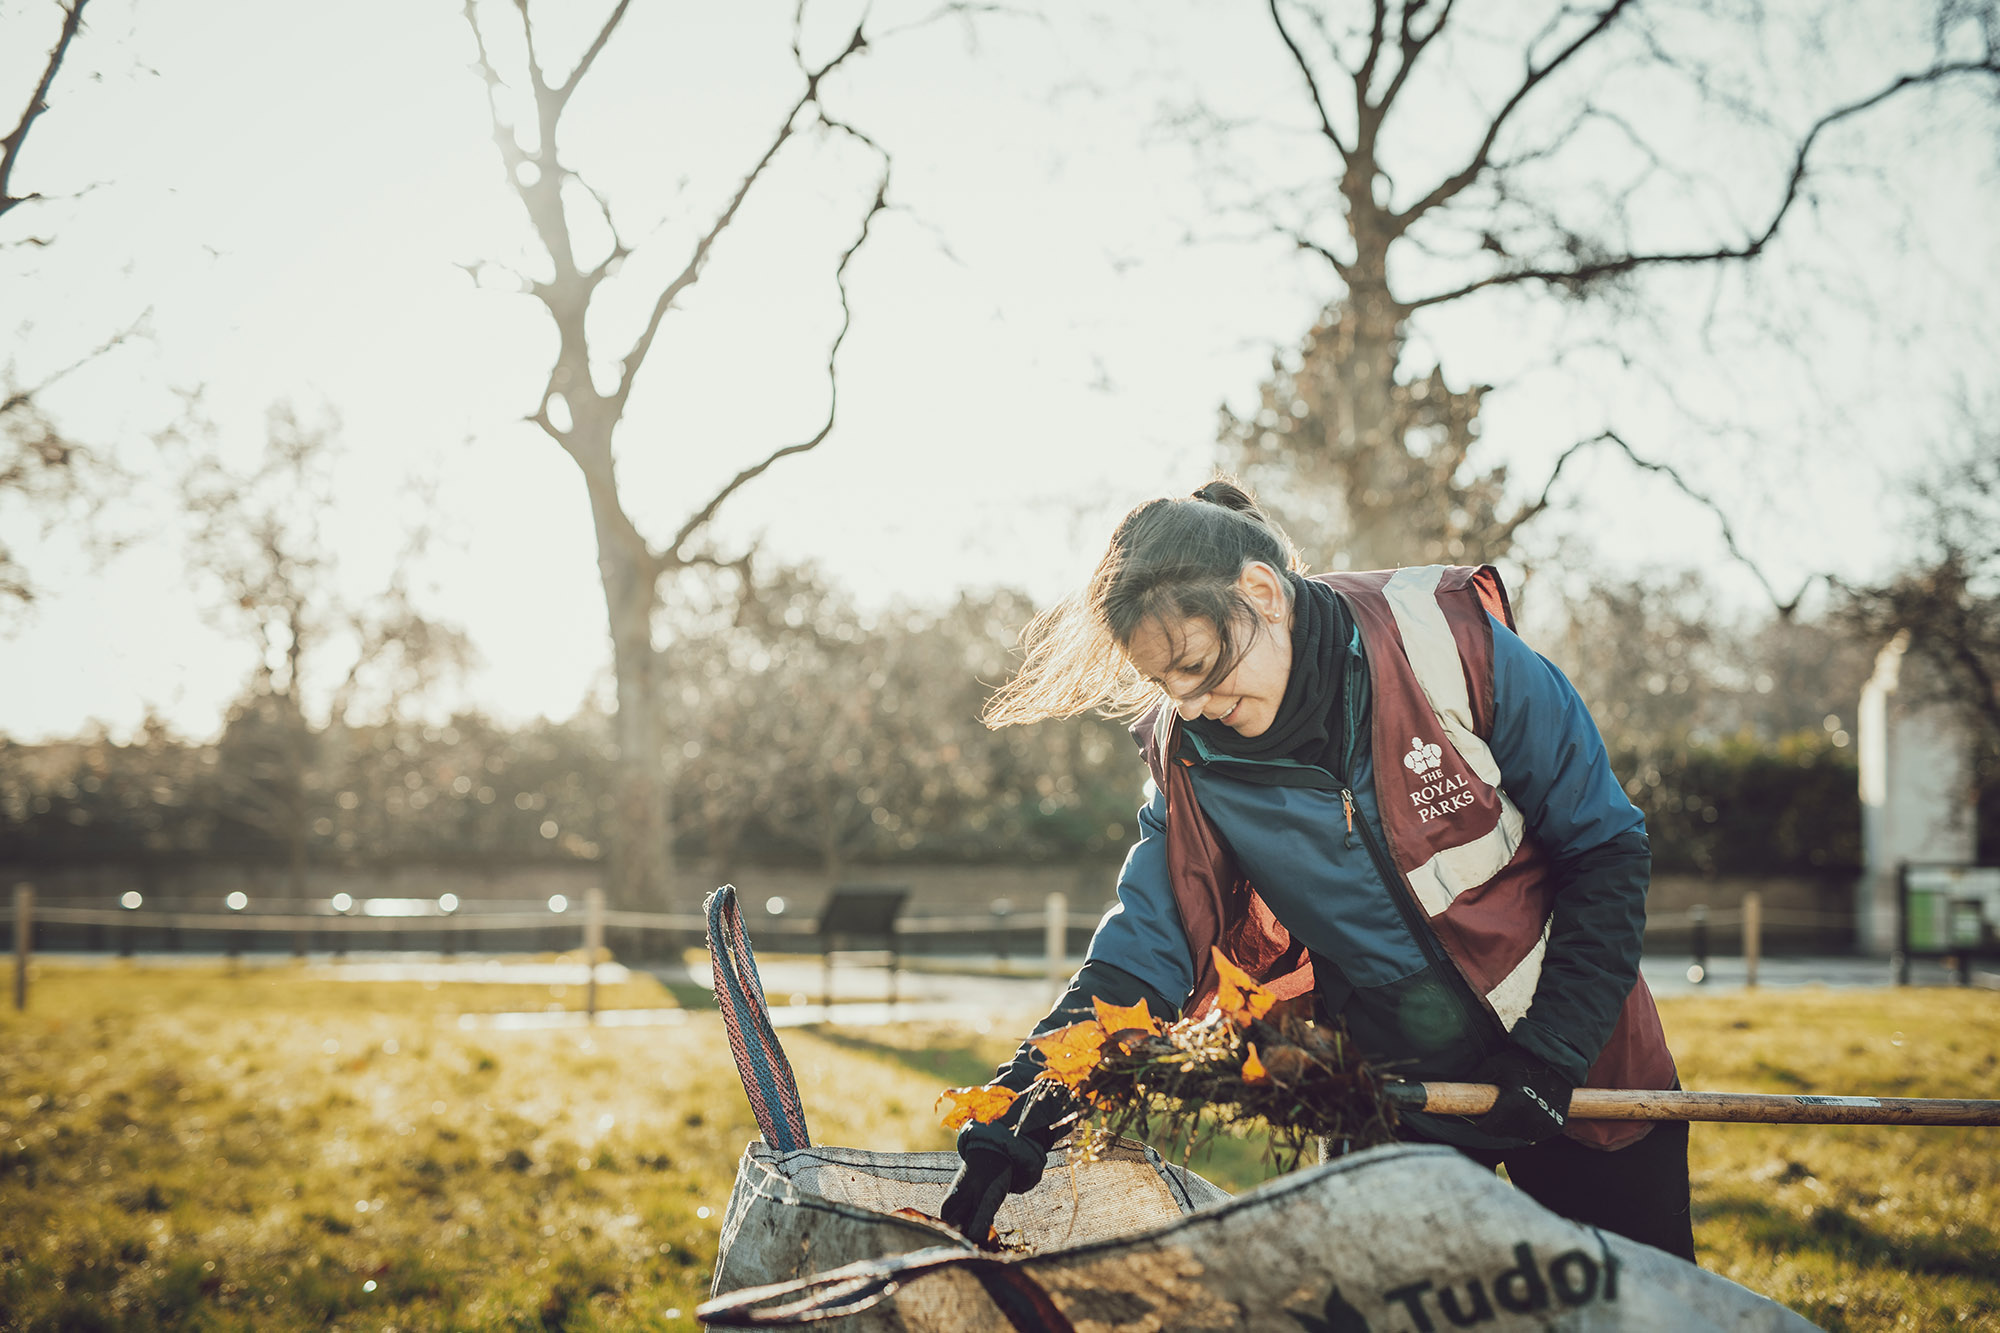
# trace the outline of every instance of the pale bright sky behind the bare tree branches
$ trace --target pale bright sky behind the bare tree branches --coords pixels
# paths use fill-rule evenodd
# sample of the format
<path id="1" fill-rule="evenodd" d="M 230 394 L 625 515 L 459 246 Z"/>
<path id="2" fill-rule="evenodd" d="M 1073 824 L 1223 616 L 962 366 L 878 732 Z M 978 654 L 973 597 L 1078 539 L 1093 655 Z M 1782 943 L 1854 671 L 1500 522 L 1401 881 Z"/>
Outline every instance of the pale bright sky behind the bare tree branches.
<path id="1" fill-rule="evenodd" d="M 1252 410 L 1274 350 L 1334 294 L 1324 264 L 1242 208 L 1324 188 L 1324 160 L 1262 6 L 910 26 L 932 8 L 878 4 L 882 36 L 828 86 L 888 148 L 896 204 L 850 270 L 838 426 L 734 496 L 716 538 L 816 560 L 862 604 L 998 584 L 1052 598 L 1124 508 L 1206 476 L 1218 408 Z M 546 60 L 566 68 L 602 10 L 540 6 Z M 1796 116 L 1894 58 L 1870 26 L 1892 10 L 1846 6 L 1810 60 L 1740 52 L 1742 68 Z M 386 580 L 410 522 L 436 522 L 420 598 L 478 654 L 458 703 L 524 721 L 602 697 L 582 480 L 522 420 L 554 334 L 496 266 L 534 256 L 458 6 L 94 0 L 88 16 L 16 176 L 58 198 L 0 220 L 0 240 L 54 236 L 0 250 L 0 366 L 34 382 L 138 322 L 46 394 L 132 486 L 98 516 L 122 538 L 108 556 L 74 520 L 38 532 L 0 500 L 42 590 L 0 622 L 0 733 L 122 735 L 156 711 L 204 737 L 240 693 L 252 648 L 184 568 L 172 454 L 154 444 L 194 394 L 238 460 L 274 402 L 338 420 L 326 526 L 354 596 Z M 486 16 L 502 68 L 508 16 Z M 808 58 L 858 16 L 808 4 Z M 564 152 L 634 248 L 592 312 L 600 346 L 630 340 L 798 96 L 790 18 L 762 0 L 634 4 L 578 94 Z M 56 20 L 52 0 L 0 0 L 8 122 Z M 1448 72 L 1404 150 L 1446 160 L 1480 90 L 1480 70 Z M 1238 130 L 1202 148 L 1194 106 Z M 1962 430 L 1956 404 L 1992 390 L 1992 128 L 1964 98 L 1894 108 L 1828 144 L 1810 208 L 1754 274 L 1642 284 L 1616 324 L 1532 296 L 1466 302 L 1420 318 L 1412 356 L 1496 386 L 1480 450 L 1518 492 L 1616 424 L 1714 494 L 1776 582 L 1878 574 L 1902 550 L 1898 486 Z M 1674 238 L 1764 206 L 1772 136 L 1690 116 L 1680 138 L 1722 184 L 1646 196 L 1642 226 Z M 876 170 L 852 142 L 800 134 L 670 314 L 618 436 L 626 506 L 654 540 L 824 416 L 832 264 Z M 1754 604 L 1714 518 L 1656 480 L 1586 458 L 1564 496 L 1536 558 L 1694 566 Z"/>

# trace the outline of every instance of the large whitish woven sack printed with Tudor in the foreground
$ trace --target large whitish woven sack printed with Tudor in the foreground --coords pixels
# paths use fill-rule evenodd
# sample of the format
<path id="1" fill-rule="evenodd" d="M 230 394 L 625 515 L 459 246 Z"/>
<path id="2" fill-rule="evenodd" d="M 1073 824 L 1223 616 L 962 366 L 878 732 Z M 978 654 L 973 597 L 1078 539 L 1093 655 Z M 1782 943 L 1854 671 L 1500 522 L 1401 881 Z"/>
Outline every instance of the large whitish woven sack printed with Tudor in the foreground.
<path id="1" fill-rule="evenodd" d="M 1058 1155 L 1060 1157 L 1060 1155 Z M 1134 1151 L 1052 1161 L 984 1255 L 880 1209 L 936 1203 L 950 1153 L 752 1145 L 724 1221 L 712 1327 L 852 1333 L 1810 1331 L 1672 1255 L 1556 1217 L 1444 1147 L 1382 1147 L 1246 1195 Z M 1136 1223 L 1136 1229 L 1134 1229 Z M 894 1253 L 894 1251 L 906 1253 Z M 748 1283 L 772 1283 L 734 1291 Z M 732 1293 L 732 1295 L 724 1295 Z"/>

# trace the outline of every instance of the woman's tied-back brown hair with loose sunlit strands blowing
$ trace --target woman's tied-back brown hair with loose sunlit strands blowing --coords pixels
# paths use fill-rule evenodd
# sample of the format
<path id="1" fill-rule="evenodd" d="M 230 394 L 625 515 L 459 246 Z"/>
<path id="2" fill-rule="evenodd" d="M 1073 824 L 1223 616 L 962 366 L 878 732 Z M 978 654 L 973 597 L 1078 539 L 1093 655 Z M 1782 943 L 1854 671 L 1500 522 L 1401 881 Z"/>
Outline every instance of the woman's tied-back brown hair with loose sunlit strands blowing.
<path id="1" fill-rule="evenodd" d="M 1168 632 L 1196 618 L 1214 626 L 1216 662 L 1202 691 L 1214 689 L 1260 626 L 1236 586 L 1252 560 L 1278 572 L 1304 568 L 1292 540 L 1234 478 L 1218 476 L 1188 498 L 1140 504 L 1112 532 L 1088 586 L 1022 630 L 1026 660 L 986 703 L 986 725 L 1038 723 L 1088 709 L 1108 717 L 1144 713 L 1160 689 L 1132 669 L 1124 650 L 1148 620 Z"/>

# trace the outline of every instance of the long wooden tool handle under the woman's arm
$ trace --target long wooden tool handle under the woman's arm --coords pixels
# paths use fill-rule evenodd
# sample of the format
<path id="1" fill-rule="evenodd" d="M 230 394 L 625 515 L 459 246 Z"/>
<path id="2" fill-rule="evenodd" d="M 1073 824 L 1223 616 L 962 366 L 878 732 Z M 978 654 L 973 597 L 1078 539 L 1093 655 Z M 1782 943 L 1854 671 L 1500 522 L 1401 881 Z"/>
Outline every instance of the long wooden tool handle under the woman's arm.
<path id="1" fill-rule="evenodd" d="M 1390 1083 L 1404 1111 L 1484 1115 L 1492 1083 Z M 1580 1087 L 1570 1115 L 1582 1121 L 1750 1121 L 1756 1125 L 2000 1125 L 2000 1101 L 1954 1097 L 1794 1097 L 1788 1093 L 1680 1093 Z"/>

